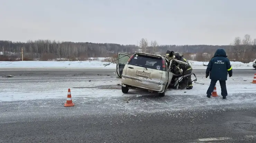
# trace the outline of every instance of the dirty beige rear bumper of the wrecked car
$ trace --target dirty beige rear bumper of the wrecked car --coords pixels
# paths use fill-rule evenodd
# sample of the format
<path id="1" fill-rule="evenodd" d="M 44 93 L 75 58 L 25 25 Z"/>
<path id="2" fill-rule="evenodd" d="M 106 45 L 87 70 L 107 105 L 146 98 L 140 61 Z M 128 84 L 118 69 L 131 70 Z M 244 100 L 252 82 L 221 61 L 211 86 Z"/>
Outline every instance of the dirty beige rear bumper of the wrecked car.
<path id="1" fill-rule="evenodd" d="M 143 89 L 148 89 L 148 90 L 154 90 L 157 92 L 163 92 L 166 86 L 166 83 L 164 82 L 137 79 L 137 78 L 126 76 L 126 75 L 122 75 L 122 84 L 143 88 Z"/>

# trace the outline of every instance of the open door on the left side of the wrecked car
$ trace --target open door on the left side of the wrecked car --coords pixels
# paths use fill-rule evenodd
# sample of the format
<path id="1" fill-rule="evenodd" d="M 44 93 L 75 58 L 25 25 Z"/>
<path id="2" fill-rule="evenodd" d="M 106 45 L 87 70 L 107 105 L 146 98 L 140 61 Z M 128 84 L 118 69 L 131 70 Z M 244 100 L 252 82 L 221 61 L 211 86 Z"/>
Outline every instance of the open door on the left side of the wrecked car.
<path id="1" fill-rule="evenodd" d="M 129 55 L 118 53 L 117 54 L 117 67 L 116 67 L 116 78 L 122 78 L 122 73 L 127 63 L 128 59 L 130 58 Z"/>

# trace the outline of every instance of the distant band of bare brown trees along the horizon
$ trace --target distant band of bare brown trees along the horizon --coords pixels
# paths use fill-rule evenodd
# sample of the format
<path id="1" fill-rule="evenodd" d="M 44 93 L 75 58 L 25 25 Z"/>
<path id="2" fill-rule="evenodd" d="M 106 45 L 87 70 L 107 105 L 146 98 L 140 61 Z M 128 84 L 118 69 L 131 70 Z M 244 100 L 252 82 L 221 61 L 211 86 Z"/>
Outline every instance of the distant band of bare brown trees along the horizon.
<path id="1" fill-rule="evenodd" d="M 24 56 L 40 59 L 109 57 L 119 52 L 133 53 L 135 51 L 164 54 L 167 50 L 201 55 L 202 53 L 212 54 L 218 48 L 225 49 L 237 61 L 245 61 L 246 58 L 250 61 L 250 58 L 256 58 L 256 39 L 251 40 L 248 34 L 243 40 L 236 37 L 232 45 L 158 45 L 156 41 L 148 43 L 144 38 L 140 40 L 139 45 L 51 40 L 27 41 L 26 43 L 0 41 L 0 52 L 3 52 L 4 56 L 8 56 L 8 53 L 17 53 L 14 55 L 20 57 L 21 47 Z"/>

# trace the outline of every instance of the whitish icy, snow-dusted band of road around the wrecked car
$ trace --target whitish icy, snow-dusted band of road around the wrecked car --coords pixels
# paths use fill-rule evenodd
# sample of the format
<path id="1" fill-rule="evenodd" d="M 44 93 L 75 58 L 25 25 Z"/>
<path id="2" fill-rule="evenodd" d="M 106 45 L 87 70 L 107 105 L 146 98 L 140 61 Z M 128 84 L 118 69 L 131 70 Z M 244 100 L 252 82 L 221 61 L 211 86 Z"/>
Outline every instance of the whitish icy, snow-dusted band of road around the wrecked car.
<path id="1" fill-rule="evenodd" d="M 92 70 L 96 73 L 99 70 Z M 242 70 L 238 70 L 242 71 Z M 253 73 L 254 70 L 247 70 Z M 58 71 L 55 71 L 56 73 Z M 16 71 L 18 73 L 18 71 Z M 62 73 L 65 73 L 62 72 Z M 234 103 L 255 103 L 256 85 L 252 84 L 252 74 L 239 73 L 227 80 L 228 96 L 227 100 L 221 99 L 221 89 L 217 83 L 217 94 L 220 97 L 206 98 L 206 90 L 210 84 L 210 79 L 205 78 L 203 70 L 195 70 L 198 82 L 193 84 L 192 90 L 169 90 L 166 96 L 159 98 L 157 94 L 149 94 L 145 91 L 129 90 L 128 94 L 121 92 L 120 79 L 115 78 L 112 71 L 107 73 L 93 74 L 77 71 L 76 74 L 47 75 L 42 73 L 34 76 L 33 71 L 28 71 L 12 78 L 1 77 L 0 80 L 0 101 L 35 100 L 35 99 L 63 99 L 66 100 L 67 89 L 71 89 L 74 102 L 88 104 L 92 102 L 106 101 L 109 107 L 123 108 L 127 101 L 127 110 L 140 107 L 147 108 L 153 112 L 164 109 L 197 108 L 200 106 L 211 106 Z M 192 79 L 193 80 L 193 79 Z M 127 100 L 127 101 L 126 101 Z M 151 105 L 155 105 L 152 107 Z M 150 109 L 152 107 L 152 109 Z"/>

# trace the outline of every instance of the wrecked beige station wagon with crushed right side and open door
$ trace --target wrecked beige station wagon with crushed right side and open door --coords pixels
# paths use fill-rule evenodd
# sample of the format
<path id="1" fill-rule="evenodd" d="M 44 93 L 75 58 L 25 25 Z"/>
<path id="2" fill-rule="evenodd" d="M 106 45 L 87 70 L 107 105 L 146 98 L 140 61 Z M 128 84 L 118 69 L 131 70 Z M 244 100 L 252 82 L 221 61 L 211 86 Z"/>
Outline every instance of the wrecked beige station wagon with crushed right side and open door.
<path id="1" fill-rule="evenodd" d="M 187 63 L 172 59 L 168 66 L 161 55 L 135 52 L 129 56 L 118 53 L 116 78 L 121 78 L 121 89 L 125 94 L 129 89 L 142 88 L 149 92 L 158 92 L 163 97 L 168 88 L 178 89 L 182 79 L 193 74 L 184 75 L 184 69 L 176 71 L 175 67 L 179 64 Z"/>

